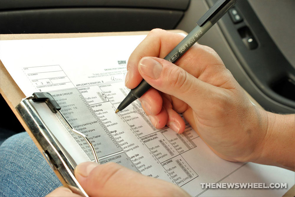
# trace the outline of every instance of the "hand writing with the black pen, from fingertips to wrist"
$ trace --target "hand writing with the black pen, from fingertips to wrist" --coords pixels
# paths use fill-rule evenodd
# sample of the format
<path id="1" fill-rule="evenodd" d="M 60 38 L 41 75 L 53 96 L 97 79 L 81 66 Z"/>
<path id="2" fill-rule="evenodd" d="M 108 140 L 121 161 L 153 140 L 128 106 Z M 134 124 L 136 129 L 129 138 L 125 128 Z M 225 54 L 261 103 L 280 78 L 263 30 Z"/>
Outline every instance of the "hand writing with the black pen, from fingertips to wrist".
<path id="1" fill-rule="evenodd" d="M 135 88 L 144 78 L 153 88 L 141 104 L 153 125 L 177 133 L 183 117 L 220 157 L 248 161 L 266 135 L 267 116 L 256 108 L 226 69 L 218 54 L 195 44 L 175 64 L 164 59 L 182 35 L 152 30 L 131 54 L 125 85 Z M 147 57 L 151 56 L 151 57 Z"/>

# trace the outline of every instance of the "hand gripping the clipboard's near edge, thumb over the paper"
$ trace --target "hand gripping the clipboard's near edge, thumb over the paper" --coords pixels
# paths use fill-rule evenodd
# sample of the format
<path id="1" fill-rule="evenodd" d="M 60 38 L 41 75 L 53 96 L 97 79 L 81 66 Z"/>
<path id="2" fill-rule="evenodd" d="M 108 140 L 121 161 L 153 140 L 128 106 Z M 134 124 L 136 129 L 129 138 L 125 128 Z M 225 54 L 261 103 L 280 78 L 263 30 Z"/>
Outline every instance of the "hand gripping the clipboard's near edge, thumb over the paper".
<path id="1" fill-rule="evenodd" d="M 75 177 L 89 196 L 189 196 L 178 186 L 141 175 L 116 163 L 85 162 L 75 169 Z M 59 187 L 47 197 L 80 196 Z"/>

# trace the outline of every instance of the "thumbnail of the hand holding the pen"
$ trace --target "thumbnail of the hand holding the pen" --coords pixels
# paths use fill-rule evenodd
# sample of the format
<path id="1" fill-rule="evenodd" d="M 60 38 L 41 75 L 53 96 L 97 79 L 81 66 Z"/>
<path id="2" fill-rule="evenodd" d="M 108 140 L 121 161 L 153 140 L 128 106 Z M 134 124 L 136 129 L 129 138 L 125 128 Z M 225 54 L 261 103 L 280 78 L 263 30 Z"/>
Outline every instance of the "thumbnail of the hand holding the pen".
<path id="1" fill-rule="evenodd" d="M 144 57 L 139 62 L 139 69 L 145 75 L 158 79 L 162 71 L 162 64 L 150 57 Z"/>

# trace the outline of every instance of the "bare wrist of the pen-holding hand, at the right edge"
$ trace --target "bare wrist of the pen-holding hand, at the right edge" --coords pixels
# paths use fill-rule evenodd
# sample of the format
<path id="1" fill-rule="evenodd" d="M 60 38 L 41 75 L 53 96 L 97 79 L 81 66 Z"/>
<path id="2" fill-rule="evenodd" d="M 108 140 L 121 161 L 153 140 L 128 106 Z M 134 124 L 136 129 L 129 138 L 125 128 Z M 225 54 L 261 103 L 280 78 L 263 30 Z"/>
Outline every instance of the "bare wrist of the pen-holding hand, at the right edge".
<path id="1" fill-rule="evenodd" d="M 294 170 L 295 115 L 274 114 L 260 110 L 263 138 L 257 143 L 249 162 L 273 165 Z"/>

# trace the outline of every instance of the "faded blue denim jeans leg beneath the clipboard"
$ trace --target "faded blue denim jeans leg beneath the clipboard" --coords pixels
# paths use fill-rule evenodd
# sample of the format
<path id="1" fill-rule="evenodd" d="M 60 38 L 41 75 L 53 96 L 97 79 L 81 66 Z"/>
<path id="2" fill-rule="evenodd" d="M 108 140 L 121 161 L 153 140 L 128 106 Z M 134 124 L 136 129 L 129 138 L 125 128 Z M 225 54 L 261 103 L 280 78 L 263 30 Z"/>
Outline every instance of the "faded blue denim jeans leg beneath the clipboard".
<path id="1" fill-rule="evenodd" d="M 62 186 L 27 132 L 0 146 L 0 195 L 46 196 Z"/>

